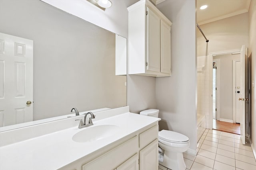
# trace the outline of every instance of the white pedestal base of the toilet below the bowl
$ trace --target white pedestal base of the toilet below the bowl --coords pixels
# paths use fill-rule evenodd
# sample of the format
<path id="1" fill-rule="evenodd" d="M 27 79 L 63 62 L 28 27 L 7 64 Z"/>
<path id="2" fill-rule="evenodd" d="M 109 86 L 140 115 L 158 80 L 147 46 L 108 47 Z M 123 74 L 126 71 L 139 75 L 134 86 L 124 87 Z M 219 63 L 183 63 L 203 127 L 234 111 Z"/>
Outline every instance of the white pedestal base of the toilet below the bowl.
<path id="1" fill-rule="evenodd" d="M 164 151 L 164 162 L 159 162 L 160 165 L 165 166 L 171 170 L 186 170 L 182 152 Z"/>

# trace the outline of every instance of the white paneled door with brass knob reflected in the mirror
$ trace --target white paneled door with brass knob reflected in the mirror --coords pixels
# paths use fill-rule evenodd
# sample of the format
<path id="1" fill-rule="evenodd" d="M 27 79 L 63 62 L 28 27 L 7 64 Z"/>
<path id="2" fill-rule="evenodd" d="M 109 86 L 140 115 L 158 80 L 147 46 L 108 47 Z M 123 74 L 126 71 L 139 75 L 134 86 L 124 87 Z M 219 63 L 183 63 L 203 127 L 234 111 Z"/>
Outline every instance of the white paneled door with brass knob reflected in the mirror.
<path id="1" fill-rule="evenodd" d="M 32 120 L 33 41 L 0 33 L 0 127 Z"/>

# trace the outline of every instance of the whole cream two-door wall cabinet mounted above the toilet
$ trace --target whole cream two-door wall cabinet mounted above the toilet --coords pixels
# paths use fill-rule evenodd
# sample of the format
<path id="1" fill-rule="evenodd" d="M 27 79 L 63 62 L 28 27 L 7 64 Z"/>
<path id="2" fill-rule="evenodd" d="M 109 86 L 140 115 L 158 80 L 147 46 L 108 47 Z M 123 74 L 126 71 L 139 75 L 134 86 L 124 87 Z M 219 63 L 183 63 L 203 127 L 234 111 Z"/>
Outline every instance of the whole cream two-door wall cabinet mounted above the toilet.
<path id="1" fill-rule="evenodd" d="M 171 75 L 171 21 L 149 0 L 128 7 L 129 74 Z"/>

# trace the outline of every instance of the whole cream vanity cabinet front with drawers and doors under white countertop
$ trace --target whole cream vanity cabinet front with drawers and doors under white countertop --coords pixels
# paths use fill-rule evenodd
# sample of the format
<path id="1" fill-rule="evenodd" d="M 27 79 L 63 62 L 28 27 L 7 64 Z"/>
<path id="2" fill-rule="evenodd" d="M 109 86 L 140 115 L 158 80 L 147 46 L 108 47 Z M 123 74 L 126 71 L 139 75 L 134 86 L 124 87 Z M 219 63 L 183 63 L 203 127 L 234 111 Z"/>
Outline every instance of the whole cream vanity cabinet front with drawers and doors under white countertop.
<path id="1" fill-rule="evenodd" d="M 144 129 L 118 147 L 82 165 L 82 170 L 158 169 L 158 125 Z"/>

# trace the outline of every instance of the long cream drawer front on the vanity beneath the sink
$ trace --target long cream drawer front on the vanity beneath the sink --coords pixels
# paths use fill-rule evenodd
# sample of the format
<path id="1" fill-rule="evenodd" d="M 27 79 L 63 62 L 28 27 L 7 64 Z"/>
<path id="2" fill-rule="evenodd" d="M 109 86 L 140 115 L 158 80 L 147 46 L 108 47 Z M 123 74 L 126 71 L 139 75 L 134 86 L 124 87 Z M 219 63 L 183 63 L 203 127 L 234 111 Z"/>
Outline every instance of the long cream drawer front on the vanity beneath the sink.
<path id="1" fill-rule="evenodd" d="M 138 136 L 82 166 L 82 170 L 113 170 L 138 150 Z M 125 154 L 124 154 L 125 153 Z"/>

